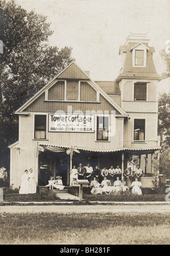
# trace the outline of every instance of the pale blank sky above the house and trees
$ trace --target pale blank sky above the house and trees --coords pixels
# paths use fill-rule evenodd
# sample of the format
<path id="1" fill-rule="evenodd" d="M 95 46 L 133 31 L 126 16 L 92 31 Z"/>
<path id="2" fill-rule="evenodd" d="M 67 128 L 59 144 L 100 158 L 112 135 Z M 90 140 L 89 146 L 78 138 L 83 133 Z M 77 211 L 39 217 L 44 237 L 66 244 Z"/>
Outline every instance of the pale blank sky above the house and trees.
<path id="1" fill-rule="evenodd" d="M 51 46 L 73 47 L 72 57 L 94 81 L 114 81 L 121 69 L 119 46 L 131 33 L 147 34 L 155 47 L 159 75 L 165 71 L 160 51 L 170 40 L 170 0 L 16 0 L 24 9 L 47 16 L 54 31 Z M 159 92 L 170 91 L 170 79 Z"/>

